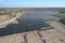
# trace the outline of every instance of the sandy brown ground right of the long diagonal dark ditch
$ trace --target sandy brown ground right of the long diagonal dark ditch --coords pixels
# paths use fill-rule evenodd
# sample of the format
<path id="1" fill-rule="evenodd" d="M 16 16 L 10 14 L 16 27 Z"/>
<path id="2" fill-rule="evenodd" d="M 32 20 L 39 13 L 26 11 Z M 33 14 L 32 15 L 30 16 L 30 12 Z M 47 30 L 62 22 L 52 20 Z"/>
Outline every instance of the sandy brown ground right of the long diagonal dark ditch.
<path id="1" fill-rule="evenodd" d="M 65 28 L 55 20 L 49 22 L 54 27 L 50 30 L 40 31 L 40 33 L 47 40 L 47 43 L 65 43 Z"/>

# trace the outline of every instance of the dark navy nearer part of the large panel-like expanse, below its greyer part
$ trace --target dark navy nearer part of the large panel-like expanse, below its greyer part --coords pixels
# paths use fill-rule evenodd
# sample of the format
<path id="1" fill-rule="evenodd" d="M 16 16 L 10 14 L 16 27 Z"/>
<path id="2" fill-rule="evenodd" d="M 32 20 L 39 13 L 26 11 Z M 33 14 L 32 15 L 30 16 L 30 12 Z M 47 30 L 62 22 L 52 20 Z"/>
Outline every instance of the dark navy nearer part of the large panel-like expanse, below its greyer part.
<path id="1" fill-rule="evenodd" d="M 10 24 L 5 28 L 1 28 L 0 35 L 40 30 L 41 28 L 50 27 L 50 25 L 46 24 L 42 19 L 22 19 L 18 22 L 16 25 Z"/>

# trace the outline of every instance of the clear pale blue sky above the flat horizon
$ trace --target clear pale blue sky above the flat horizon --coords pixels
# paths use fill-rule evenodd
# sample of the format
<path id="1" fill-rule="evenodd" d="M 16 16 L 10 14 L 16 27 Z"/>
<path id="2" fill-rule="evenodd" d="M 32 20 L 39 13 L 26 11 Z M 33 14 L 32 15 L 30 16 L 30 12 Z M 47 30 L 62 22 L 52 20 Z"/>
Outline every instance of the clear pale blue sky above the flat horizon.
<path id="1" fill-rule="evenodd" d="M 65 8 L 65 0 L 0 0 L 0 8 Z"/>

